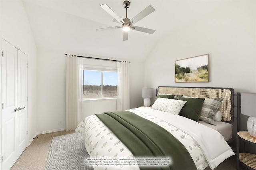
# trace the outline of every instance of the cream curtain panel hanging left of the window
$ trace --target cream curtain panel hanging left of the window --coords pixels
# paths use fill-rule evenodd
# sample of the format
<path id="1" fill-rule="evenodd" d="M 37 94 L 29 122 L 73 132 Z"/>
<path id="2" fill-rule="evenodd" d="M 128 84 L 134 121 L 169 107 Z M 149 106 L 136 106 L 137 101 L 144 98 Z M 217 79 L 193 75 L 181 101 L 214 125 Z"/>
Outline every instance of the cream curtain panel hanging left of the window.
<path id="1" fill-rule="evenodd" d="M 82 119 L 82 67 L 80 57 L 67 55 L 66 131 L 75 130 Z"/>

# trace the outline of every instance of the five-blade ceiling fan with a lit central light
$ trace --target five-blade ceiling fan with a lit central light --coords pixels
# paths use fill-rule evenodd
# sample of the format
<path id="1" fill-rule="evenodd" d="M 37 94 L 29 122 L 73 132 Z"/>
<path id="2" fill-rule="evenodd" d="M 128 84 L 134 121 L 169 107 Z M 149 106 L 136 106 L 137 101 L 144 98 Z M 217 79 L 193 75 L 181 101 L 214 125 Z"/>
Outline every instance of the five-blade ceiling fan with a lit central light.
<path id="1" fill-rule="evenodd" d="M 155 11 L 155 9 L 151 5 L 149 5 L 147 8 L 142 10 L 139 14 L 137 14 L 131 20 L 129 18 L 127 18 L 127 8 L 130 7 L 130 2 L 127 0 L 124 1 L 124 8 L 126 8 L 126 18 L 124 18 L 124 19 L 120 18 L 111 8 L 109 8 L 109 6 L 107 4 L 100 5 L 100 7 L 102 9 L 104 9 L 106 12 L 108 12 L 108 14 L 110 14 L 116 20 L 117 23 L 122 24 L 122 26 L 100 28 L 100 29 L 97 29 L 98 31 L 122 28 L 122 30 L 124 31 L 124 38 L 123 38 L 124 41 L 128 40 L 128 32 L 130 30 L 145 32 L 148 34 L 153 34 L 155 32 L 155 30 L 151 30 L 148 28 L 143 28 L 143 27 L 138 27 L 138 26 L 133 25 L 136 22 L 140 21 L 142 18 L 148 16 L 149 14 L 151 14 L 152 12 Z"/>

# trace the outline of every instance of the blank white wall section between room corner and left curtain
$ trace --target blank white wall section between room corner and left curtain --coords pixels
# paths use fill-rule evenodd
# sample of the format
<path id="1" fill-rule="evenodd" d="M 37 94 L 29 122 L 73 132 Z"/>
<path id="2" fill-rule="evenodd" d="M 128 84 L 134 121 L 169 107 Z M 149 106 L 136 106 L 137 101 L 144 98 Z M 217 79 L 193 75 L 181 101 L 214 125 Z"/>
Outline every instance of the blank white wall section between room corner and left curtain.
<path id="1" fill-rule="evenodd" d="M 65 54 L 38 48 L 37 55 L 37 132 L 65 130 Z"/>

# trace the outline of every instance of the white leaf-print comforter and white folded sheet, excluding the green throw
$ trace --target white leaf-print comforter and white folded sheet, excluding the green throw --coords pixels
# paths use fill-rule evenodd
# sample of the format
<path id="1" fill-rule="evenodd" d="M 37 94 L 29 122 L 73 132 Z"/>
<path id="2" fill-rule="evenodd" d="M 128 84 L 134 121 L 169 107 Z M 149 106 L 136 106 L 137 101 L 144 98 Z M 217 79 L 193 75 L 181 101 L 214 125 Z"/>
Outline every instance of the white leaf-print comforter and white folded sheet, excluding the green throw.
<path id="1" fill-rule="evenodd" d="M 234 152 L 219 132 L 207 128 L 200 123 L 178 115 L 154 110 L 150 107 L 140 107 L 131 109 L 130 111 L 141 115 L 144 118 L 146 117 L 146 119 L 153 121 L 163 128 L 167 128 L 166 130 L 172 133 L 176 138 L 185 135 L 185 138 L 188 141 L 183 142 L 182 144 L 184 144 L 190 152 L 197 169 L 202 170 L 206 168 L 208 163 L 210 168 L 214 169 L 226 158 L 234 155 Z M 98 119 L 98 117 L 92 115 L 87 117 L 86 121 L 84 122 L 85 125 L 83 131 L 86 141 L 86 150 L 91 158 L 133 157 L 130 150 L 120 142 L 120 140 Z M 84 123 L 80 123 L 79 126 L 82 126 Z M 172 126 L 165 126 L 166 124 Z M 180 130 L 176 130 L 177 128 Z M 190 136 L 187 134 L 190 134 Z M 191 147 L 193 147 L 193 149 L 191 149 Z M 197 159 L 197 157 L 200 159 Z M 94 169 L 104 169 L 104 166 L 93 167 Z M 139 169 L 138 166 L 109 166 L 108 168 Z"/>

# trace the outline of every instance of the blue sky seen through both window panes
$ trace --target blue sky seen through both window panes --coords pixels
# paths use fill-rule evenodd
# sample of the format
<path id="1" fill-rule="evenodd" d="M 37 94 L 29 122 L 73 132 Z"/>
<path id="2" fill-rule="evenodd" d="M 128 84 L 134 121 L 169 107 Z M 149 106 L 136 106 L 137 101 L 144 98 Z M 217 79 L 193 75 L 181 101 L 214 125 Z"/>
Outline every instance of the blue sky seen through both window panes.
<path id="1" fill-rule="evenodd" d="M 116 72 L 103 72 L 103 85 L 117 85 Z M 101 71 L 84 70 L 84 85 L 101 85 Z"/>

